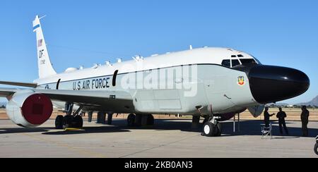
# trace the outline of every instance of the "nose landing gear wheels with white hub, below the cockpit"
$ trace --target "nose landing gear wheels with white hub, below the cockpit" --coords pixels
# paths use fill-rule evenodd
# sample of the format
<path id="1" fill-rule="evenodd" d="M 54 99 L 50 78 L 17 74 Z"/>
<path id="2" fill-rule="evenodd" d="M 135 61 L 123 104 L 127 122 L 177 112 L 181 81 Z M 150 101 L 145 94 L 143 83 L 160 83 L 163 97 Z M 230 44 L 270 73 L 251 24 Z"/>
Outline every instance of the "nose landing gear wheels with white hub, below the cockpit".
<path id="1" fill-rule="evenodd" d="M 220 119 L 220 117 L 213 116 L 204 120 L 204 132 L 202 133 L 203 136 L 218 137 L 222 135 L 222 125 L 218 122 L 218 119 Z"/>

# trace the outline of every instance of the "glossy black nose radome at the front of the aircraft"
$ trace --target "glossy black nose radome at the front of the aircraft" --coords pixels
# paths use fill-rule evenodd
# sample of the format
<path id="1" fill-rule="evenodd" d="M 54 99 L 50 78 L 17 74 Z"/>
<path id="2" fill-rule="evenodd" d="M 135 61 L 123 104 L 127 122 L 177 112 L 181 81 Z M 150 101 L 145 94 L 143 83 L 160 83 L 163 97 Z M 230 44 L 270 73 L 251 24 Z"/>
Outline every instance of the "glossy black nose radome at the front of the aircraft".
<path id="1" fill-rule="evenodd" d="M 300 70 L 278 66 L 254 66 L 249 70 L 249 85 L 260 104 L 297 97 L 310 87 L 310 79 Z"/>

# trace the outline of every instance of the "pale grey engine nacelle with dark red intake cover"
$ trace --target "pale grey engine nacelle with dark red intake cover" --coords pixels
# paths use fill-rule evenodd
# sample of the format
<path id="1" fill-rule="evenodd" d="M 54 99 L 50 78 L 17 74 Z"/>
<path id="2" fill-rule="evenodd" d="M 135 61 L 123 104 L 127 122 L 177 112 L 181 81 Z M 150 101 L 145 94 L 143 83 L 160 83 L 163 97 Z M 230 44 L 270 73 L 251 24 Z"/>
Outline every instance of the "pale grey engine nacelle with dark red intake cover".
<path id="1" fill-rule="evenodd" d="M 53 112 L 51 99 L 31 90 L 16 92 L 6 105 L 8 117 L 19 126 L 34 128 L 42 125 Z"/>

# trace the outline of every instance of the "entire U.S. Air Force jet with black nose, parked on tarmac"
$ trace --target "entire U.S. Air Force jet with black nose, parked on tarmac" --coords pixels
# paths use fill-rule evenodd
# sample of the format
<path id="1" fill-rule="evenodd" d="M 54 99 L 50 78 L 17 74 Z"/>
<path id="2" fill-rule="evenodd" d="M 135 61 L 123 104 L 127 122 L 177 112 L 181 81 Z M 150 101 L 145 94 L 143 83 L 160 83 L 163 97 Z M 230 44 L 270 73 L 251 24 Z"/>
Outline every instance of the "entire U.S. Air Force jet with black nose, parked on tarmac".
<path id="1" fill-rule="evenodd" d="M 297 97 L 310 87 L 300 70 L 262 64 L 254 56 L 229 48 L 202 47 L 187 51 L 134 56 L 91 68 L 68 68 L 57 73 L 49 58 L 39 16 L 33 21 L 37 38 L 39 78 L 32 83 L 6 82 L 8 117 L 25 128 L 45 123 L 53 107 L 57 129 L 83 127 L 81 113 L 127 113 L 129 126 L 153 125 L 152 114 L 204 117 L 206 136 L 222 134 L 221 121 L 249 109 L 261 115 L 264 104 Z M 25 87 L 25 88 L 21 88 Z"/>

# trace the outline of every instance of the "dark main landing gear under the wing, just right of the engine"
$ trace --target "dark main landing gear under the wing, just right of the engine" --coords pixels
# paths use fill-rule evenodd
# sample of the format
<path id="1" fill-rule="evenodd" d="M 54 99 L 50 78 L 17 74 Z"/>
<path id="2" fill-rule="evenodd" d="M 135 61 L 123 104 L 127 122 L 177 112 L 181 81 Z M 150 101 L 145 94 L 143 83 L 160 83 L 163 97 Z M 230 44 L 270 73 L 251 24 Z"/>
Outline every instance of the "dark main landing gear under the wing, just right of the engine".
<path id="1" fill-rule="evenodd" d="M 56 129 L 66 128 L 83 128 L 83 118 L 79 115 L 82 107 L 78 108 L 76 112 L 73 112 L 73 104 L 67 103 L 65 105 L 66 116 L 57 116 L 55 119 Z"/>

